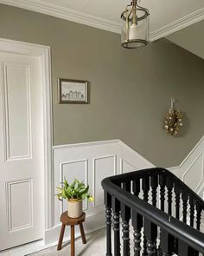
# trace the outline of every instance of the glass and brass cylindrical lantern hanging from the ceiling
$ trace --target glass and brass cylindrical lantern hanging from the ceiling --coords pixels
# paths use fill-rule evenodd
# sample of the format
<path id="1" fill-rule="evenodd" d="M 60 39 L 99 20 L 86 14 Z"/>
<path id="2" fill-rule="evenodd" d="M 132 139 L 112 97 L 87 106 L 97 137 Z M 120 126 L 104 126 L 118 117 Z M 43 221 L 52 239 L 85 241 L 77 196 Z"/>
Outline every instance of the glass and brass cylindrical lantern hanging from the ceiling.
<path id="1" fill-rule="evenodd" d="M 139 6 L 137 0 L 126 6 L 121 14 L 121 44 L 124 48 L 134 49 L 148 44 L 149 15 L 149 10 Z"/>

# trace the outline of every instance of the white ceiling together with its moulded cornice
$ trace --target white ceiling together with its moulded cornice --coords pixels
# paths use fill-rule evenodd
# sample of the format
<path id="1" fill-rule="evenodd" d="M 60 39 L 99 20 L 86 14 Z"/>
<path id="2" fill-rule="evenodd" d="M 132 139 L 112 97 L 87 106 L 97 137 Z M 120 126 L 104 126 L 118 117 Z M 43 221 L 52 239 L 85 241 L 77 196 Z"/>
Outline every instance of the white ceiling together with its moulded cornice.
<path id="1" fill-rule="evenodd" d="M 119 32 L 120 14 L 131 0 L 0 0 L 17 7 Z M 153 40 L 204 19 L 204 0 L 140 0 L 150 10 Z"/>

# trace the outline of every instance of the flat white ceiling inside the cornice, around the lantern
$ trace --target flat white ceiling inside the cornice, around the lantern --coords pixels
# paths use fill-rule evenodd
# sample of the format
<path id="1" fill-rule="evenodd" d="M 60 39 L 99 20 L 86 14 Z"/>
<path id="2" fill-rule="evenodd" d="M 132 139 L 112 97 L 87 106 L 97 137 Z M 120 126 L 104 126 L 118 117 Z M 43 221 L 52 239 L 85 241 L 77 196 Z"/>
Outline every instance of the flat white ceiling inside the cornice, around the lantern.
<path id="1" fill-rule="evenodd" d="M 131 0 L 43 0 L 77 10 L 92 16 L 120 23 L 120 14 Z M 163 26 L 204 8 L 204 0 L 141 0 L 141 6 L 150 10 L 150 30 Z"/>

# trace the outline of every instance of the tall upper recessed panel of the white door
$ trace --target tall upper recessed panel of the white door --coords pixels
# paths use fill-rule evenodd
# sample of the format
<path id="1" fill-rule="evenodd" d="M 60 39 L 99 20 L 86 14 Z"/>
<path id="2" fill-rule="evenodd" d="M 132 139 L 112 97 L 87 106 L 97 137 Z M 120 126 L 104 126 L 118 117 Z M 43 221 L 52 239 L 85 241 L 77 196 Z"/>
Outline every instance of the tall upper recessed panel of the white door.
<path id="1" fill-rule="evenodd" d="M 29 65 L 3 63 L 3 77 L 7 160 L 30 157 Z"/>

